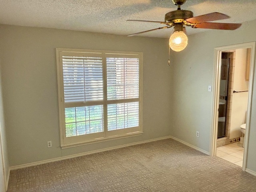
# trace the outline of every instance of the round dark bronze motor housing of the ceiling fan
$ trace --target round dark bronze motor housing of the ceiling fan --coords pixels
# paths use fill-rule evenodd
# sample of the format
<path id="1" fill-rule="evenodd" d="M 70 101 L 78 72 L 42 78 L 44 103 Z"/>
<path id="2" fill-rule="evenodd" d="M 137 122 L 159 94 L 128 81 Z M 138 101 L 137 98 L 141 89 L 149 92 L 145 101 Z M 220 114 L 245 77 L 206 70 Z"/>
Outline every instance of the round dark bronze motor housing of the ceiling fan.
<path id="1" fill-rule="evenodd" d="M 176 10 L 165 14 L 165 22 L 181 23 L 188 18 L 193 17 L 193 12 L 188 10 Z"/>

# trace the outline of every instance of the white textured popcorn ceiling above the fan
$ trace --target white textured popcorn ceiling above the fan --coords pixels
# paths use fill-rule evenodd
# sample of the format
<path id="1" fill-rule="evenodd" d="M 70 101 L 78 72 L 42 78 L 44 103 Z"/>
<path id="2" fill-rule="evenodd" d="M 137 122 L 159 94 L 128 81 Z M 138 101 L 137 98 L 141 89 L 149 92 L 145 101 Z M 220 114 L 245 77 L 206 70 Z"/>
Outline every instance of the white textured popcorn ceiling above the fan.
<path id="1" fill-rule="evenodd" d="M 128 35 L 164 25 L 126 20 L 164 21 L 164 15 L 176 9 L 171 0 L 0 0 L 0 24 Z M 194 16 L 224 13 L 231 18 L 220 22 L 242 23 L 240 28 L 256 19 L 256 0 L 187 0 L 181 9 L 194 12 Z M 188 35 L 208 31 L 186 29 Z M 168 38 L 171 31 L 155 30 L 140 36 Z"/>

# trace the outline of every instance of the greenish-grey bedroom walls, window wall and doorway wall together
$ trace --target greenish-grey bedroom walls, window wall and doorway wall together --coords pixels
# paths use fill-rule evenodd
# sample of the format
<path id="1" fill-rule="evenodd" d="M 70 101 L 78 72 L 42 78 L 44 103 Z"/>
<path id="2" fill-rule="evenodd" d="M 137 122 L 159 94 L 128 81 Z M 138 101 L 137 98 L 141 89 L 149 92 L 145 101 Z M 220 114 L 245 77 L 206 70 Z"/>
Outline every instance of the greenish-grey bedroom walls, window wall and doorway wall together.
<path id="1" fill-rule="evenodd" d="M 0 25 L 0 59 L 10 165 L 169 135 L 209 152 L 213 92 L 208 92 L 208 85 L 213 85 L 214 48 L 256 41 L 255 31 L 256 20 L 249 22 L 246 29 L 209 30 L 191 35 L 184 51 L 172 52 L 168 68 L 168 39 Z M 142 136 L 61 150 L 56 47 L 143 52 Z M 255 79 L 253 90 L 256 90 Z M 251 116 L 256 116 L 255 91 Z M 251 118 L 246 168 L 256 173 L 255 124 L 256 119 Z M 200 132 L 199 138 L 196 131 Z M 47 148 L 48 140 L 52 140 L 52 148 Z"/>

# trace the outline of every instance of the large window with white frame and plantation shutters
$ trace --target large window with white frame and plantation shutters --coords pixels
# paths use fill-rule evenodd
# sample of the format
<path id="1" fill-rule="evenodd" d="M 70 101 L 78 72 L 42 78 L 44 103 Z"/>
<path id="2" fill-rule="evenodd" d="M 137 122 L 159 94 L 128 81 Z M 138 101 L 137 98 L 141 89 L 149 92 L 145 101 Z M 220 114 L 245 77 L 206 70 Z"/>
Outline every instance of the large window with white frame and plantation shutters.
<path id="1" fill-rule="evenodd" d="M 56 49 L 61 146 L 142 134 L 142 53 Z"/>

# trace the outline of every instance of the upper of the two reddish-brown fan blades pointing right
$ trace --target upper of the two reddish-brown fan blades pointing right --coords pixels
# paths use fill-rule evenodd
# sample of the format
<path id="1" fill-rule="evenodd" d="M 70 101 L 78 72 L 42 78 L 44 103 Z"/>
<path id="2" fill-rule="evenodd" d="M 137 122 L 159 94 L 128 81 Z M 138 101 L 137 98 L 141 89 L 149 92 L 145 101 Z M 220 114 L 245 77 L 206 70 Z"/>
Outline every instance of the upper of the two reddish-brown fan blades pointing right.
<path id="1" fill-rule="evenodd" d="M 202 22 L 216 21 L 216 20 L 222 20 L 222 19 L 228 19 L 228 18 L 230 18 L 230 16 L 227 16 L 223 13 L 213 12 L 205 15 L 188 18 L 186 19 L 186 21 L 190 23 L 202 23 Z"/>

